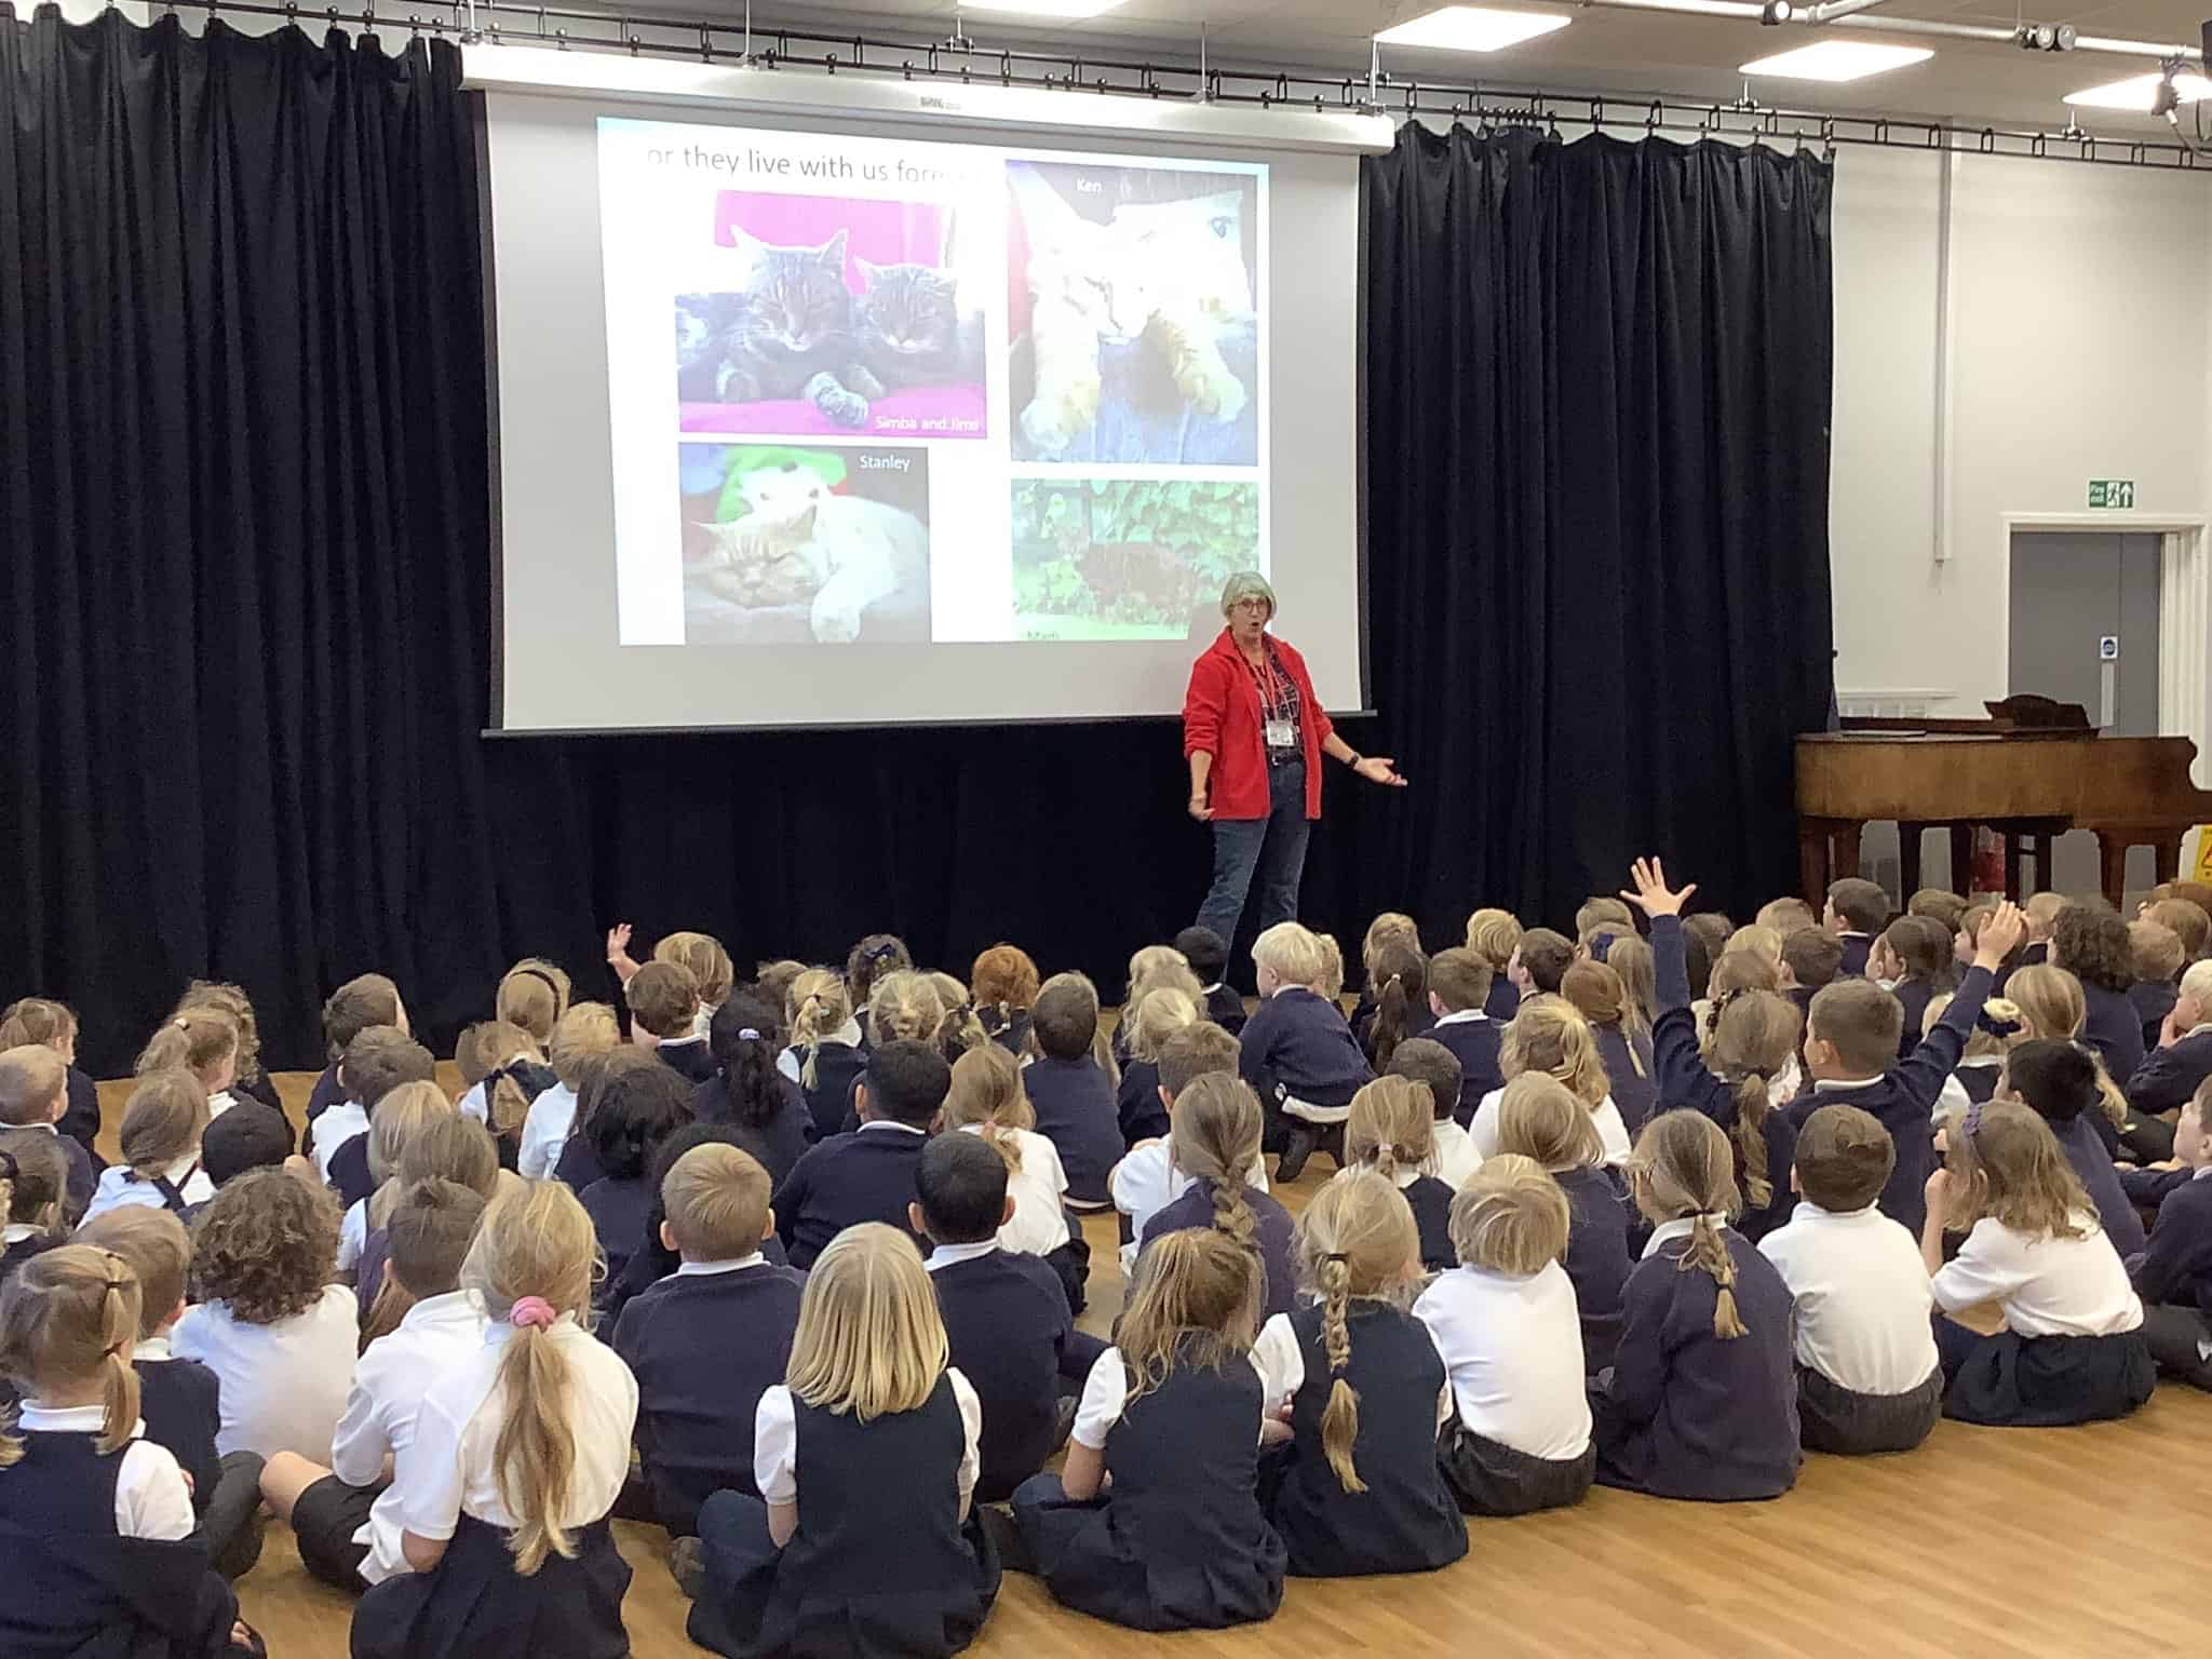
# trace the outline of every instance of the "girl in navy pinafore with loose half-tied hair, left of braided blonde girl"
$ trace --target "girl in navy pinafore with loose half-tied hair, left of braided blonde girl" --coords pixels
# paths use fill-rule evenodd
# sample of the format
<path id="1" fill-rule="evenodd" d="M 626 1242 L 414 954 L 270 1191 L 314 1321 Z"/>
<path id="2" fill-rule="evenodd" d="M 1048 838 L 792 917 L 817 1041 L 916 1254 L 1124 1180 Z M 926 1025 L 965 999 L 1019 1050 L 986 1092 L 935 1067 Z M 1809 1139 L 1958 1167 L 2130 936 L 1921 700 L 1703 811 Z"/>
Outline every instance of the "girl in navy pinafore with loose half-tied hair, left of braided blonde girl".
<path id="1" fill-rule="evenodd" d="M 1064 1469 L 1013 1495 L 1022 1551 L 1064 1606 L 1133 1630 L 1274 1617 L 1287 1555 L 1256 1491 L 1261 1296 L 1259 1261 L 1219 1232 L 1170 1234 L 1139 1261 Z"/>

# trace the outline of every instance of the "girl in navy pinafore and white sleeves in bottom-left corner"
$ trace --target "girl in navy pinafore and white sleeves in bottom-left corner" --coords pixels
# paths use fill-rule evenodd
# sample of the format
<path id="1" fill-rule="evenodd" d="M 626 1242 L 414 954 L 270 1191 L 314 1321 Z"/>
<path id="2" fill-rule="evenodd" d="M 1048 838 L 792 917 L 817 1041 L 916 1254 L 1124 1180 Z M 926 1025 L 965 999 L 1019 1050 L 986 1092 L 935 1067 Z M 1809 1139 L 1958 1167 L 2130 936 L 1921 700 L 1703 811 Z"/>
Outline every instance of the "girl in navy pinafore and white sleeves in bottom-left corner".
<path id="1" fill-rule="evenodd" d="M 0 1378 L 22 1396 L 0 1429 L 13 1659 L 261 1652 L 195 1535 L 177 1458 L 137 1433 L 142 1307 L 131 1263 L 93 1245 L 49 1250 L 0 1290 Z"/>

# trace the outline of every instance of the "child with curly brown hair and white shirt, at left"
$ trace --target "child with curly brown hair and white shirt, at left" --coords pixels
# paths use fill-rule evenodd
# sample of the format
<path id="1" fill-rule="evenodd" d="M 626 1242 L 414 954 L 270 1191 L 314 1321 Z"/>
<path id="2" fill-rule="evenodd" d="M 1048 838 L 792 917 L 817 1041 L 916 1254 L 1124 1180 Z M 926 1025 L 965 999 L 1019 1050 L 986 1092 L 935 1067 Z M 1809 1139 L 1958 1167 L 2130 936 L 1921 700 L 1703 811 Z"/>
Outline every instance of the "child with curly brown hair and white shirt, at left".
<path id="1" fill-rule="evenodd" d="M 292 1451 L 330 1462 L 330 1440 L 354 1383 L 354 1292 L 334 1285 L 338 1206 L 285 1170 L 241 1175 L 192 1228 L 192 1287 L 201 1296 L 170 1334 L 177 1358 L 221 1385 L 223 1455 Z"/>

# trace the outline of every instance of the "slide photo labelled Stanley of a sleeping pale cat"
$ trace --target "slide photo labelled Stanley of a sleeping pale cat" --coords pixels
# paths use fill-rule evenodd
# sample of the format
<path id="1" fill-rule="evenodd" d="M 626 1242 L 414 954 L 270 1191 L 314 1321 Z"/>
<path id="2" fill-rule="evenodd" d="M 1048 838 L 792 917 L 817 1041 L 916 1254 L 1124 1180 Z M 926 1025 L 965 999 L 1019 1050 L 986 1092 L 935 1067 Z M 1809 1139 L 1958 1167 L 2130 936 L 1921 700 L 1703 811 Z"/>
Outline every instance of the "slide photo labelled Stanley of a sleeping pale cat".
<path id="1" fill-rule="evenodd" d="M 927 644 L 929 451 L 677 445 L 686 644 Z"/>

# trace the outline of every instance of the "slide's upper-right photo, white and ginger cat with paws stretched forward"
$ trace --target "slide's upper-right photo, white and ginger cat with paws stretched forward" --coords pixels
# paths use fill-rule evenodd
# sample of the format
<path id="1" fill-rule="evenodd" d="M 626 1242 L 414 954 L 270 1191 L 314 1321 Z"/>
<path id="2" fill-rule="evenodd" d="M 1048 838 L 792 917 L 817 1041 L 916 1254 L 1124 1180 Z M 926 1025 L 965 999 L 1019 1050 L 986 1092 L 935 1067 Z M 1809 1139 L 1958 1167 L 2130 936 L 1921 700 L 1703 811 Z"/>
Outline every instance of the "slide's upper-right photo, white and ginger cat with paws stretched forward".
<path id="1" fill-rule="evenodd" d="M 1256 369 L 1256 181 L 1040 161 L 1009 161 L 1006 179 L 1026 241 L 1029 385 L 1015 400 L 1031 458 L 1256 462 L 1256 431 L 1217 434 L 1206 453 L 1188 445 L 1190 420 L 1237 427 L 1252 400 L 1223 343 L 1250 336 L 1245 374 Z M 1148 398 L 1152 385 L 1170 400 Z"/>

